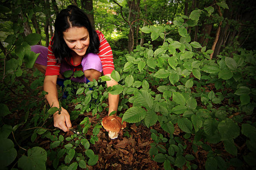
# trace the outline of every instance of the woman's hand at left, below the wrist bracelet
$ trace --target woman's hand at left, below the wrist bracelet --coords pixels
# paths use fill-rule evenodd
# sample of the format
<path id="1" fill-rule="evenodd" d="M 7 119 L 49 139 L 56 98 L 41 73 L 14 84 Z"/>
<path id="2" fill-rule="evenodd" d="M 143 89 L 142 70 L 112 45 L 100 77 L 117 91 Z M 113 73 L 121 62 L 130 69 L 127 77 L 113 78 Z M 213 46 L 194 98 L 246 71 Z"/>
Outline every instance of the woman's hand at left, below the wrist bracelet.
<path id="1" fill-rule="evenodd" d="M 61 114 L 59 112 L 54 113 L 54 127 L 60 128 L 64 132 L 69 131 L 69 128 L 72 127 L 69 112 L 63 107 L 61 107 Z"/>

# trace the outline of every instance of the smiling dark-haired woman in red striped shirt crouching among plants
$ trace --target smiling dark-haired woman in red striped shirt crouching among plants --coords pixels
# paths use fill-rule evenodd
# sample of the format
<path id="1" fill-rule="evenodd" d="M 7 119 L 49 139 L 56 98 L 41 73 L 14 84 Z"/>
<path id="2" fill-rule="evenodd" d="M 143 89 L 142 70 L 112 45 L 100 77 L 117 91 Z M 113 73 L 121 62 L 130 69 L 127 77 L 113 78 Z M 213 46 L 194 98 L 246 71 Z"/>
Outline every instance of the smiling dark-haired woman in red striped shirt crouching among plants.
<path id="1" fill-rule="evenodd" d="M 41 54 L 35 67 L 45 74 L 44 91 L 51 107 L 59 107 L 56 82 L 64 78 L 67 70 L 83 70 L 84 77 L 74 78 L 76 82 L 98 80 L 103 70 L 110 77 L 114 70 L 112 50 L 100 31 L 92 29 L 86 14 L 77 6 L 69 5 L 61 10 L 54 23 L 55 31 L 48 52 L 47 47 L 33 46 L 31 50 Z M 48 55 L 46 56 L 46 54 Z M 107 86 L 117 85 L 114 80 Z M 117 111 L 119 95 L 108 95 L 109 111 Z M 61 107 L 61 114 L 54 114 L 54 126 L 67 132 L 72 127 L 69 113 Z"/>

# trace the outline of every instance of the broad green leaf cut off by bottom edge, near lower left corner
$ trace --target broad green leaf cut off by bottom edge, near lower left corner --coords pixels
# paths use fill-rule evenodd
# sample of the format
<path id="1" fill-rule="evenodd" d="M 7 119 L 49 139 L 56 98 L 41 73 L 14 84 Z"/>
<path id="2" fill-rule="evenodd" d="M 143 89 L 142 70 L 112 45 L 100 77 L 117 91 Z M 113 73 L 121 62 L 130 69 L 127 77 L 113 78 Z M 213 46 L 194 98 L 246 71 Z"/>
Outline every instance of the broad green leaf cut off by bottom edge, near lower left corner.
<path id="1" fill-rule="evenodd" d="M 40 147 L 33 147 L 28 150 L 28 156 L 23 155 L 18 160 L 18 168 L 23 170 L 46 170 L 46 160 L 46 151 Z"/>

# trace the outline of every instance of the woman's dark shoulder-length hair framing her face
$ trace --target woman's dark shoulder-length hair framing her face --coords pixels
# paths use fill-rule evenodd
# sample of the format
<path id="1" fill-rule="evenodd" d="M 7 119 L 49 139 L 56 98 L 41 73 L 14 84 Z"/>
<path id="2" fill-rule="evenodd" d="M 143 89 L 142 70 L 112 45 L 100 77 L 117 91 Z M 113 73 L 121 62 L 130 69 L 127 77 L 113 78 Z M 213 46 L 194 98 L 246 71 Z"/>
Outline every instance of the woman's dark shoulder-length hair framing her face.
<path id="1" fill-rule="evenodd" d="M 54 23 L 54 37 L 51 41 L 53 53 L 57 63 L 62 59 L 70 60 L 71 51 L 63 39 L 63 32 L 71 27 L 85 27 L 89 32 L 90 44 L 86 54 L 89 52 L 97 53 L 99 51 L 100 41 L 97 32 L 92 28 L 89 18 L 79 7 L 69 5 L 66 9 L 61 10 L 57 15 Z"/>

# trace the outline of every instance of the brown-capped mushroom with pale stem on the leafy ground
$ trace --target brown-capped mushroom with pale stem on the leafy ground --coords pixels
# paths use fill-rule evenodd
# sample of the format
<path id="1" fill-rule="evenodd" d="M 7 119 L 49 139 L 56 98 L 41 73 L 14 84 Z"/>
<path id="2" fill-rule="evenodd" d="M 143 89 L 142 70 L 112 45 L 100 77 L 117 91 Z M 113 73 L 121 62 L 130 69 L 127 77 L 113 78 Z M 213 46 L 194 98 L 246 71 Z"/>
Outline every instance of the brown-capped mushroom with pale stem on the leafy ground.
<path id="1" fill-rule="evenodd" d="M 101 125 L 105 130 L 108 130 L 108 136 L 111 139 L 118 137 L 120 129 L 126 127 L 126 122 L 122 124 L 122 118 L 118 116 L 106 116 L 103 118 Z"/>

